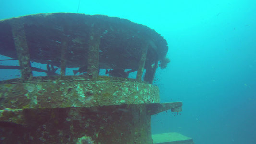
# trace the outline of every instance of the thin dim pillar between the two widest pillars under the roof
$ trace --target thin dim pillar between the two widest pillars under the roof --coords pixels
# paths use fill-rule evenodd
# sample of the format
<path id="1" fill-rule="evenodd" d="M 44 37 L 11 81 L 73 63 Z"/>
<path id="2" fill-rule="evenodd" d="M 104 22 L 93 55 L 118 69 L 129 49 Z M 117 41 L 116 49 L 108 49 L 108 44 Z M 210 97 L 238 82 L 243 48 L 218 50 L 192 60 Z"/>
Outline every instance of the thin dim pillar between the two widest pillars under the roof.
<path id="1" fill-rule="evenodd" d="M 61 48 L 61 76 L 66 75 L 67 49 L 68 49 L 67 39 L 63 38 L 62 48 Z"/>

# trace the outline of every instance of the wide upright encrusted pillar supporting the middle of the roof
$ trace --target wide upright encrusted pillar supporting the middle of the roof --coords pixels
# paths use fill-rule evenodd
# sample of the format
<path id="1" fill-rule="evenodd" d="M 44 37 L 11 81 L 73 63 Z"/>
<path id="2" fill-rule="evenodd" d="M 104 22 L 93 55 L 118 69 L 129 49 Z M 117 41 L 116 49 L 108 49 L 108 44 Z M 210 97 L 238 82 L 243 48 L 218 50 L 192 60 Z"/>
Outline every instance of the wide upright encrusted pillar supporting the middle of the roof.
<path id="1" fill-rule="evenodd" d="M 99 44 L 100 30 L 93 29 L 89 38 L 88 51 L 88 75 L 91 79 L 97 79 L 99 74 Z"/>

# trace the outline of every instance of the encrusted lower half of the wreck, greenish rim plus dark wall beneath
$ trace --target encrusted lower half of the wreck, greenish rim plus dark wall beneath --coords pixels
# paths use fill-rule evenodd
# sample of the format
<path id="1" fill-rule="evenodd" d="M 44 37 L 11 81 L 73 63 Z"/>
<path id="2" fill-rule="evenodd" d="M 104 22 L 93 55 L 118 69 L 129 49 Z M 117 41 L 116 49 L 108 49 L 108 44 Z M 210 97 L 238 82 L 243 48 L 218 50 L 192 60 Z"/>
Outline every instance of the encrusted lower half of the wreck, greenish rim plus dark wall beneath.
<path id="1" fill-rule="evenodd" d="M 181 107 L 159 99 L 158 87 L 136 81 L 1 84 L 1 137 L 6 144 L 152 144 L 151 115 Z"/>

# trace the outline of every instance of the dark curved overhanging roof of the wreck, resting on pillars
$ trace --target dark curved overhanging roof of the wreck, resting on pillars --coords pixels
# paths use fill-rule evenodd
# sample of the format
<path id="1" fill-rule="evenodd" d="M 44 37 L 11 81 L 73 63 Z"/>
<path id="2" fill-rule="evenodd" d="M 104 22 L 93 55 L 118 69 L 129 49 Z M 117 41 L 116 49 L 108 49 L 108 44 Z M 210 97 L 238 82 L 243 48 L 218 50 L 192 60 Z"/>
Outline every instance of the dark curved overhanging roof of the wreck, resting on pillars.
<path id="1" fill-rule="evenodd" d="M 137 69 L 143 48 L 146 64 L 165 58 L 166 40 L 154 30 L 126 19 L 77 13 L 35 14 L 0 21 L 0 54 L 18 59 L 15 45 L 22 31 L 30 60 L 61 67 L 66 47 L 66 67 L 87 66 L 90 40 L 98 39 L 102 69 Z M 17 36 L 17 37 L 15 37 Z M 21 37 L 20 37 L 21 38 Z"/>

